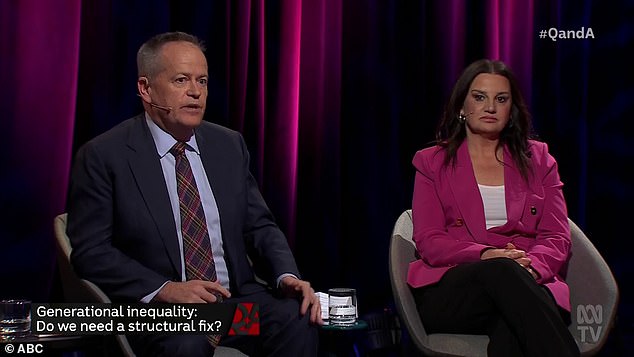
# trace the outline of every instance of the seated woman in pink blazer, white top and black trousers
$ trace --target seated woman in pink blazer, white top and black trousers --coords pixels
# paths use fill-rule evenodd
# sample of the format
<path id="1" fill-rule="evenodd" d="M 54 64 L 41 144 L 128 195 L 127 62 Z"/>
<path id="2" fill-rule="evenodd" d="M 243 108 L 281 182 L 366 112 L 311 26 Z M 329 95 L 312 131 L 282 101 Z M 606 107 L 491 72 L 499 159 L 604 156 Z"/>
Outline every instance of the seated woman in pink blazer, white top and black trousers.
<path id="1" fill-rule="evenodd" d="M 414 156 L 412 288 L 429 333 L 486 334 L 490 356 L 578 356 L 557 163 L 531 140 L 514 75 L 480 60 L 458 79 L 437 145 Z"/>

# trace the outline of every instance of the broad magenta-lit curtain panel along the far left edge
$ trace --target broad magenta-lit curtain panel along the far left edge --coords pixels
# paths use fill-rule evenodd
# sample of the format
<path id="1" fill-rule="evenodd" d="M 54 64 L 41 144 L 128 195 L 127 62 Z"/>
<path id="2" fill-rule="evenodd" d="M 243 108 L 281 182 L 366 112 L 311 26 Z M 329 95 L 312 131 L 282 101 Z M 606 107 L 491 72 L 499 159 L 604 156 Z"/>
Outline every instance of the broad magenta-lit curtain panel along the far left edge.
<path id="1" fill-rule="evenodd" d="M 80 4 L 0 2 L 0 298 L 50 293 L 53 217 L 64 211 L 71 161 Z"/>

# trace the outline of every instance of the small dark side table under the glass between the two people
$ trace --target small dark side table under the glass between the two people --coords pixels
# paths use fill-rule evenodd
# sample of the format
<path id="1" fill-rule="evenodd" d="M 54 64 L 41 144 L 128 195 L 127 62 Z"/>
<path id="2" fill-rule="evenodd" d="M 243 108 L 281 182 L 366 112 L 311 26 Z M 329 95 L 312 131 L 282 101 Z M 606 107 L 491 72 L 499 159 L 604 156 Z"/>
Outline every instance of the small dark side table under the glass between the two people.
<path id="1" fill-rule="evenodd" d="M 367 322 L 357 319 L 353 325 L 323 325 L 319 328 L 320 357 L 359 357 L 363 355 L 360 341 Z"/>

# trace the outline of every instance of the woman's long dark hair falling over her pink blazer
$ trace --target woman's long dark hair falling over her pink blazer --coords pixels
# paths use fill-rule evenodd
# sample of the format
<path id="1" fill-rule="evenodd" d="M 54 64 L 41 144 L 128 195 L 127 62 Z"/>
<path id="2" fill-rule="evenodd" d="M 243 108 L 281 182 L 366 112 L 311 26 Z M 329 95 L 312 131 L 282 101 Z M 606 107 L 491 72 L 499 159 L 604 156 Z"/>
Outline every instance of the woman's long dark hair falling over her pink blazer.
<path id="1" fill-rule="evenodd" d="M 498 74 L 506 77 L 511 86 L 511 117 L 500 133 L 498 147 L 506 145 L 512 159 L 526 180 L 531 172 L 528 140 L 534 137 L 531 115 L 524 97 L 519 90 L 515 75 L 501 61 L 481 59 L 470 64 L 456 81 L 449 102 L 436 130 L 436 144 L 445 148 L 445 165 L 455 164 L 458 147 L 467 136 L 466 125 L 458 119 L 464 105 L 469 87 L 475 77 L 481 73 Z"/>

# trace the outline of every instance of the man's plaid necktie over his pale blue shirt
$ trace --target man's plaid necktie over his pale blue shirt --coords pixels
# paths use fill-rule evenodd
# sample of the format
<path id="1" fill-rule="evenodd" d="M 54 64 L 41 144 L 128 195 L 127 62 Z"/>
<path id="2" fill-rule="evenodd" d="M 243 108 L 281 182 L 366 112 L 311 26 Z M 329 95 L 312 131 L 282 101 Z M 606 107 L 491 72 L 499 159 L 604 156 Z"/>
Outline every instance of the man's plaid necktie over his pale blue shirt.
<path id="1" fill-rule="evenodd" d="M 186 144 L 177 142 L 170 153 L 176 159 L 176 190 L 181 213 L 185 276 L 187 280 L 216 280 L 216 265 L 207 232 L 207 221 L 200 201 L 196 180 L 185 156 Z M 220 335 L 208 335 L 212 346 L 218 346 Z"/>

